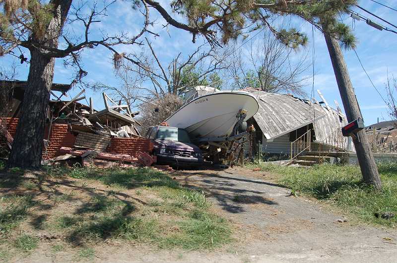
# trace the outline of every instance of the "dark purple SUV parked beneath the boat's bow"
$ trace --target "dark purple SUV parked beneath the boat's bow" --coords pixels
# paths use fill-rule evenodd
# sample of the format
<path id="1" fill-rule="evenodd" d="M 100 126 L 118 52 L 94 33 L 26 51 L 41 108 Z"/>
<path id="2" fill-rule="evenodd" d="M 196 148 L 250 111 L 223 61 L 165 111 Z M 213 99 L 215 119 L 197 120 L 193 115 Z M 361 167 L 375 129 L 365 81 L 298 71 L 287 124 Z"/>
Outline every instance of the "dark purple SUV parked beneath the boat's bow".
<path id="1" fill-rule="evenodd" d="M 172 166 L 195 166 L 202 163 L 202 152 L 192 144 L 188 133 L 181 128 L 153 126 L 146 133 L 153 143 L 157 163 Z"/>

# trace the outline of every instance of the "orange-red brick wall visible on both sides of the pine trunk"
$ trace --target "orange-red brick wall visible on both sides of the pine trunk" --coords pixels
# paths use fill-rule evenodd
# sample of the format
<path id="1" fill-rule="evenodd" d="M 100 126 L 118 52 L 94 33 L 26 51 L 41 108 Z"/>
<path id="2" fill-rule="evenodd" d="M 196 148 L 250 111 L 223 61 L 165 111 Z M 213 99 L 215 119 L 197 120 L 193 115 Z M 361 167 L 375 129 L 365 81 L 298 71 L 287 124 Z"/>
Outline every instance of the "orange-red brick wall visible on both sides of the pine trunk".
<path id="1" fill-rule="evenodd" d="M 15 136 L 18 119 L 7 118 L 7 130 Z M 48 127 L 45 128 L 44 139 L 48 138 Z M 47 147 L 47 154 L 44 158 L 53 158 L 59 156 L 61 147 L 73 147 L 76 137 L 67 130 L 67 124 L 53 124 L 50 134 L 50 145 Z M 43 148 L 44 152 L 44 148 Z"/>

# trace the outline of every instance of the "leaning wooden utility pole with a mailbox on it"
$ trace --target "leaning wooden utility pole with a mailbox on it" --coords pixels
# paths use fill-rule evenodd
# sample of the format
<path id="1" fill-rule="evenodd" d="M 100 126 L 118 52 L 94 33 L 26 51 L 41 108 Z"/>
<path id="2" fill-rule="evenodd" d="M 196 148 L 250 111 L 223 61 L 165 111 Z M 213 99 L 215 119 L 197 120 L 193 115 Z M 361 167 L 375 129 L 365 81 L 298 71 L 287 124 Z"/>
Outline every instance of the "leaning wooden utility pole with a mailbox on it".
<path id="1" fill-rule="evenodd" d="M 330 53 L 336 82 L 338 84 L 340 97 L 346 112 L 347 121 L 351 122 L 357 118 L 362 119 L 357 98 L 350 81 L 349 72 L 347 71 L 342 50 L 339 46 L 339 41 L 327 33 L 328 30 L 326 25 L 323 25 L 323 30 L 328 51 Z M 358 163 L 360 164 L 364 182 L 367 184 L 372 184 L 377 190 L 381 190 L 381 178 L 379 177 L 378 168 L 376 166 L 375 159 L 370 149 L 368 138 L 364 129 L 357 132 L 356 138 L 353 138 L 353 143 L 356 149 Z"/>

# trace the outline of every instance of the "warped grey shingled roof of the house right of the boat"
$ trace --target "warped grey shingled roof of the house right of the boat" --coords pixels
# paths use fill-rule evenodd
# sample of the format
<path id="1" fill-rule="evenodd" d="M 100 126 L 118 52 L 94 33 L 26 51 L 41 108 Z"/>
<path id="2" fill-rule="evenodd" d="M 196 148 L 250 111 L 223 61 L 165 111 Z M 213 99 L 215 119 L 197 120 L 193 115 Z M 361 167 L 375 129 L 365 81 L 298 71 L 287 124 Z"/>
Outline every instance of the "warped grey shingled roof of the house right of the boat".
<path id="1" fill-rule="evenodd" d="M 316 140 L 324 140 L 336 129 L 344 126 L 346 117 L 328 104 L 296 98 L 289 94 L 267 93 L 254 88 L 243 91 L 253 93 L 259 104 L 254 115 L 266 139 L 274 139 L 314 123 Z"/>

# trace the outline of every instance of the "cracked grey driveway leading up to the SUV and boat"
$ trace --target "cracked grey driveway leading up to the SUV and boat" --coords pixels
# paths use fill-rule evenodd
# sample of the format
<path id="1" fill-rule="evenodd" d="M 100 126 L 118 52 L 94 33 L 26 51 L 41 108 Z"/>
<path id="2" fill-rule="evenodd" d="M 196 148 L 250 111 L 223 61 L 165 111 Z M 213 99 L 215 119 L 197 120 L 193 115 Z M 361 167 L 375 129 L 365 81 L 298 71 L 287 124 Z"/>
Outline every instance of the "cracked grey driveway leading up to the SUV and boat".
<path id="1" fill-rule="evenodd" d="M 183 171 L 175 177 L 182 184 L 202 188 L 241 233 L 237 246 L 228 253 L 187 253 L 185 261 L 362 263 L 397 259 L 396 230 L 354 222 L 316 201 L 291 197 L 288 189 L 274 183 L 271 174 L 236 168 Z"/>

